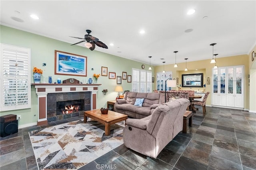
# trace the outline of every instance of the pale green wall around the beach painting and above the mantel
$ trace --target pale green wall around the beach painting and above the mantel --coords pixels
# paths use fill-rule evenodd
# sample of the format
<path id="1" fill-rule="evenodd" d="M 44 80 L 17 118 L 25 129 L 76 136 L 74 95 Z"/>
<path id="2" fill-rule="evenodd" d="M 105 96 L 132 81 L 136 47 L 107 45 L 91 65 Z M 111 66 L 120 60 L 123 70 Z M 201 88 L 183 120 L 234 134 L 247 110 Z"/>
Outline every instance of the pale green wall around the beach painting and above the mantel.
<path id="1" fill-rule="evenodd" d="M 62 80 L 72 77 L 86 83 L 90 77 L 93 78 L 92 75 L 94 73 L 101 74 L 102 66 L 108 67 L 108 71 L 115 72 L 116 76 L 122 76 L 123 71 L 127 72 L 127 75 L 132 75 L 132 68 L 141 69 L 142 64 L 145 65 L 145 68 L 149 67 L 149 65 L 145 63 L 136 62 L 96 50 L 90 51 L 90 49 L 78 45 L 70 46 L 70 43 L 61 42 L 52 38 L 39 36 L 37 34 L 24 32 L 2 25 L 0 26 L 0 37 L 1 43 L 31 49 L 31 83 L 33 83 L 33 67 L 38 67 L 43 70 L 41 83 L 43 81 L 48 83 L 49 75 L 52 76 L 53 82 L 56 82 L 58 77 Z M 100 47 L 96 47 L 96 49 L 97 48 Z M 54 75 L 54 50 L 87 56 L 87 77 Z M 46 63 L 46 66 L 42 67 L 42 63 Z M 93 71 L 92 68 L 94 68 Z M 152 66 L 152 77 L 154 77 L 154 66 Z M 114 91 L 116 87 L 116 79 L 108 79 L 108 76 L 100 76 L 97 83 L 102 84 L 99 86 L 99 91 L 97 93 L 97 109 L 100 109 L 101 107 L 106 108 L 107 101 L 116 99 L 117 92 Z M 124 90 L 131 91 L 132 83 L 127 83 L 127 80 L 122 80 L 122 87 Z M 152 89 L 154 90 L 153 87 L 154 83 L 152 85 Z M 102 94 L 103 89 L 108 89 L 108 93 L 106 95 Z M 0 116 L 8 114 L 21 115 L 22 119 L 20 119 L 20 125 L 36 123 L 38 120 L 38 103 L 34 87 L 31 89 L 31 99 L 31 109 L 0 112 Z"/>

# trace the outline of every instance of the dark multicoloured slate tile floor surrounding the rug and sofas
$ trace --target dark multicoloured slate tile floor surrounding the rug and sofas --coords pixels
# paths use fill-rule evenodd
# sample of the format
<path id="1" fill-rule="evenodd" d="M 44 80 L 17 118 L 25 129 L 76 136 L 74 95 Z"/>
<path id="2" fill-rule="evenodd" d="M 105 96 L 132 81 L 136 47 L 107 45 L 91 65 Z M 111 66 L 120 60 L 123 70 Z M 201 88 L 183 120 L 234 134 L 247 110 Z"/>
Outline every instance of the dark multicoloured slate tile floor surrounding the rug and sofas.
<path id="1" fill-rule="evenodd" d="M 28 132 L 68 121 L 19 129 L 0 138 L 1 170 L 36 170 Z M 180 132 L 156 159 L 123 145 L 90 162 L 80 170 L 256 170 L 256 114 L 248 111 L 202 107 L 193 117 L 188 133 Z"/>

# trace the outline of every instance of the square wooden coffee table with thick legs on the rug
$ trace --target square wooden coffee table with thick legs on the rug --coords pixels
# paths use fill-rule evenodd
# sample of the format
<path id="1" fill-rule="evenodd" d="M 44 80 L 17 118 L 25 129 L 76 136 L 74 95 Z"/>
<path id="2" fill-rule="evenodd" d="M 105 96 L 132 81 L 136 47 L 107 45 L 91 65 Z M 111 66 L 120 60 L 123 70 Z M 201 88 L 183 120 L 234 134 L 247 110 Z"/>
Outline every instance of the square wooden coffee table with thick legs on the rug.
<path id="1" fill-rule="evenodd" d="M 84 111 L 84 123 L 87 122 L 87 117 L 90 117 L 91 119 L 102 123 L 105 125 L 105 135 L 110 135 L 110 125 L 125 121 L 128 116 L 124 115 L 122 113 L 117 113 L 114 111 L 108 111 L 108 114 L 103 115 L 100 112 L 100 109 L 95 109 L 92 111 Z"/>

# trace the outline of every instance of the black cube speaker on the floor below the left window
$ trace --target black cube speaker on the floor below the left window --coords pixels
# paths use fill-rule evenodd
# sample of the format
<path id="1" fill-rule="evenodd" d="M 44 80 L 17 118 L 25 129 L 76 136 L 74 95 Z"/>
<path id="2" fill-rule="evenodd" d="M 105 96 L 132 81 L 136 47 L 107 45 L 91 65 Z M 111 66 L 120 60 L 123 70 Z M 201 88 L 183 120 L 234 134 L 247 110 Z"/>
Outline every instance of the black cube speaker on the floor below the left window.
<path id="1" fill-rule="evenodd" d="M 18 120 L 0 123 L 0 136 L 5 137 L 18 132 Z"/>

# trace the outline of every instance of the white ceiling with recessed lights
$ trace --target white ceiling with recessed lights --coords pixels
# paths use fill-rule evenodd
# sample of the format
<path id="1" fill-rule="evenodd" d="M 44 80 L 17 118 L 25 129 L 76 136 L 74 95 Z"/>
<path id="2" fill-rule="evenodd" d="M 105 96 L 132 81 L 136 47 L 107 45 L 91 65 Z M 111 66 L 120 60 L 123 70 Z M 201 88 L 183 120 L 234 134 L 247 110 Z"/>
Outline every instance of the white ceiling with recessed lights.
<path id="1" fill-rule="evenodd" d="M 0 1 L 0 24 L 70 44 L 85 30 L 108 45 L 95 50 L 163 65 L 249 54 L 256 43 L 256 1 Z M 189 9 L 195 9 L 187 15 Z M 17 12 L 20 12 L 18 14 Z M 40 19 L 30 18 L 36 14 Z M 204 16 L 208 16 L 203 19 Z M 24 20 L 17 22 L 16 17 Z M 145 34 L 139 34 L 144 29 Z M 185 30 L 193 29 L 186 33 Z M 114 43 L 114 46 L 110 46 Z M 84 43 L 78 45 L 84 46 Z M 86 49 L 85 49 L 86 51 Z M 85 54 L 86 55 L 86 54 Z M 164 60 L 161 60 L 164 58 Z"/>

